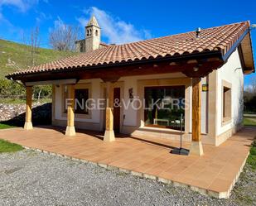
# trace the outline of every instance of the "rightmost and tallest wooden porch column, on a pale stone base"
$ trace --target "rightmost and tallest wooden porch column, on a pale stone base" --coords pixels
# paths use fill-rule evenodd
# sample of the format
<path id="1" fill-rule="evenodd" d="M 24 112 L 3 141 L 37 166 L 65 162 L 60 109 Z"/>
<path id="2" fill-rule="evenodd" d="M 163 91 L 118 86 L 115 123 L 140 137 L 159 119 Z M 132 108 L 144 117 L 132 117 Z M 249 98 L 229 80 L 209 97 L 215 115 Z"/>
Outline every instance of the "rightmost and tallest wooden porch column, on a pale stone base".
<path id="1" fill-rule="evenodd" d="M 193 78 L 193 91 L 192 91 L 192 142 L 191 142 L 191 155 L 202 156 L 203 146 L 200 135 L 200 101 L 201 101 L 201 79 Z"/>

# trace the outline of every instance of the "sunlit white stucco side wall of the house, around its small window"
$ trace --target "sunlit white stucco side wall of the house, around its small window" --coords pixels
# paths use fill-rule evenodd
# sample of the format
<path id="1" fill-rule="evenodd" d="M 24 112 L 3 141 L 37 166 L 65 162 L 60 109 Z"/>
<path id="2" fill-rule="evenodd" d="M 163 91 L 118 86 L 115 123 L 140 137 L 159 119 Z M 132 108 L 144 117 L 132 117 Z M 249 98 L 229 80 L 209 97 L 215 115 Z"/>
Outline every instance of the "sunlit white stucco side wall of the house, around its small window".
<path id="1" fill-rule="evenodd" d="M 244 74 L 241 67 L 238 50 L 235 50 L 226 64 L 217 70 L 217 135 L 227 132 L 243 121 Z M 222 125 L 222 80 L 232 84 L 231 122 L 225 125 Z"/>

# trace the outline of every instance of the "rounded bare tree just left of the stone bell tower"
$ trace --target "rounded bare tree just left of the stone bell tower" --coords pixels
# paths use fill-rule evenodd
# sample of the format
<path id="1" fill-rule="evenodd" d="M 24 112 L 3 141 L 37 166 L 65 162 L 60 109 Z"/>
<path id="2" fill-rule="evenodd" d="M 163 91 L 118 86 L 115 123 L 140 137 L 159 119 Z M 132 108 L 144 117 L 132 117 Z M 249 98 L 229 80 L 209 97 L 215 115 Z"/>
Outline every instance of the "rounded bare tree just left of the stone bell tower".
<path id="1" fill-rule="evenodd" d="M 50 45 L 54 50 L 75 50 L 75 41 L 78 40 L 79 27 L 61 25 L 51 31 Z"/>

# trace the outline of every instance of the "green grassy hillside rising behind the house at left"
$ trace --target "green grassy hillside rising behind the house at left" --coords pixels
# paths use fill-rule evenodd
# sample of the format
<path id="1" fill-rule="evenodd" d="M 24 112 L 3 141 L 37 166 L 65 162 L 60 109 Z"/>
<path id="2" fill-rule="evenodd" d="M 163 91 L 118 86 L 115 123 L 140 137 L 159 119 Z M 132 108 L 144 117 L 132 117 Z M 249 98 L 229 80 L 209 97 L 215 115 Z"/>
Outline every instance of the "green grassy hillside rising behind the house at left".
<path id="1" fill-rule="evenodd" d="M 74 54 L 73 52 L 39 48 L 36 50 L 34 58 L 35 65 L 58 60 Z M 12 73 L 18 69 L 27 69 L 28 66 L 31 66 L 31 62 L 30 46 L 0 39 L 0 79 L 4 78 L 6 74 Z"/>

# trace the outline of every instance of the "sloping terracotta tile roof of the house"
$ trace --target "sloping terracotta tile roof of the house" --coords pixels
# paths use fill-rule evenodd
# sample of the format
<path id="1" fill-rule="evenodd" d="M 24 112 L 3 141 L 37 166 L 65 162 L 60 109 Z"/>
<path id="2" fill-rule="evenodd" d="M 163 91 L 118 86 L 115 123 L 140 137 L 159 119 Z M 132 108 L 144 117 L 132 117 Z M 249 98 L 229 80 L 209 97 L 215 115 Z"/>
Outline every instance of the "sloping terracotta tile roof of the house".
<path id="1" fill-rule="evenodd" d="M 38 65 L 30 69 L 23 69 L 9 74 L 9 76 L 56 69 L 114 65 L 115 63 L 191 54 L 202 51 L 220 50 L 222 55 L 225 55 L 248 28 L 249 22 L 239 22 L 202 29 L 199 38 L 196 38 L 196 31 L 191 31 L 146 41 L 138 41 L 118 46 L 107 46 L 89 53 L 82 53 L 44 65 Z"/>

